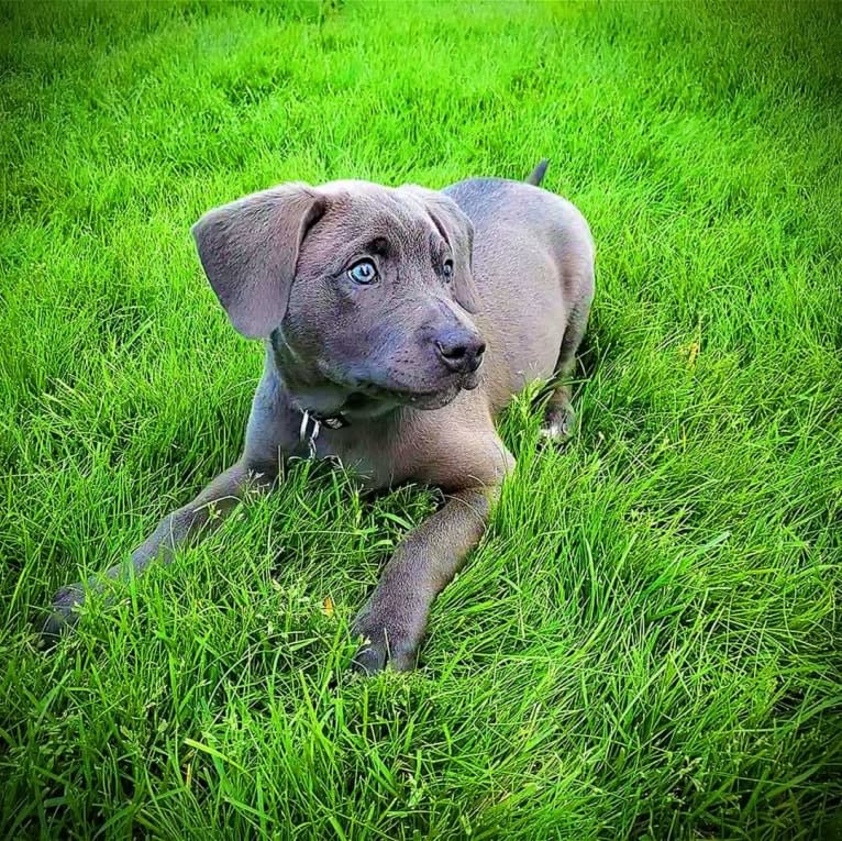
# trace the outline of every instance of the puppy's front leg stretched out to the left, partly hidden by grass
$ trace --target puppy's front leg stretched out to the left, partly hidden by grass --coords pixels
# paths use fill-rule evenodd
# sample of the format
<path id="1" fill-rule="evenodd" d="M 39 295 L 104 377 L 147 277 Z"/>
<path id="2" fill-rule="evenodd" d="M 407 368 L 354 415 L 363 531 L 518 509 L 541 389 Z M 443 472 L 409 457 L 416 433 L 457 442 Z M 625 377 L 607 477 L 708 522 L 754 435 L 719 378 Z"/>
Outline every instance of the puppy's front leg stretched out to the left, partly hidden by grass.
<path id="1" fill-rule="evenodd" d="M 196 499 L 167 514 L 134 550 L 130 560 L 112 566 L 103 575 L 92 576 L 87 587 L 80 583 L 58 590 L 53 601 L 53 612 L 44 624 L 44 638 L 51 640 L 76 624 L 76 608 L 85 601 L 86 590 L 101 590 L 107 579 L 128 578 L 132 572 L 141 575 L 155 560 L 168 563 L 179 544 L 209 533 L 246 493 L 267 490 L 276 476 L 277 468 L 256 472 L 245 462 L 237 462 L 221 473 Z"/>

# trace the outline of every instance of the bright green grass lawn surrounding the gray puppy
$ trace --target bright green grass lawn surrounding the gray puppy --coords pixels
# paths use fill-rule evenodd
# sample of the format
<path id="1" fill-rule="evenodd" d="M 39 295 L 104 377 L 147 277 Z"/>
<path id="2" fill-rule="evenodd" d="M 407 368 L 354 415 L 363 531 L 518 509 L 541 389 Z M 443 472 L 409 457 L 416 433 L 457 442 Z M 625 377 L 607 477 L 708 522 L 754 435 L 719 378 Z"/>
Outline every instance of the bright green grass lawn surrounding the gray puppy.
<path id="1" fill-rule="evenodd" d="M 0 836 L 842 833 L 839 5 L 0 21 Z M 306 463 L 35 648 L 239 453 L 261 348 L 201 212 L 543 156 L 599 255 L 581 429 L 503 419 L 518 473 L 419 672 L 351 676 L 347 622 L 434 498 Z"/>

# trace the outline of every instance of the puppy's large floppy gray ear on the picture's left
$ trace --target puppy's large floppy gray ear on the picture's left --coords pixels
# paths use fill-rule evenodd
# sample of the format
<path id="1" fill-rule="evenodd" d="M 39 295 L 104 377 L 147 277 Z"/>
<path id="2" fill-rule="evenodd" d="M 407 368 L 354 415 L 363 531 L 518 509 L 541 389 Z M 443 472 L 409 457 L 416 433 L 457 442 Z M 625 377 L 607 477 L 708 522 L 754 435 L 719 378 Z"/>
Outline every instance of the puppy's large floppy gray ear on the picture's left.
<path id="1" fill-rule="evenodd" d="M 286 184 L 208 211 L 192 235 L 204 274 L 244 336 L 269 335 L 287 310 L 298 252 L 325 200 Z"/>

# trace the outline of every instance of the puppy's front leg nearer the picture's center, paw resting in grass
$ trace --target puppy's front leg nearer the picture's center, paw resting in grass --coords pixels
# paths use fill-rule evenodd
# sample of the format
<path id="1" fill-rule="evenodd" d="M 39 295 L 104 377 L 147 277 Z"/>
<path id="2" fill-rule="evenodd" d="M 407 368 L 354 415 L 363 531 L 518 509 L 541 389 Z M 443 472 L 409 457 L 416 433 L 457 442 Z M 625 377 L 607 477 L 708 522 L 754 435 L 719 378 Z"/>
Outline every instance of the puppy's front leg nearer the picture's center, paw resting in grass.
<path id="1" fill-rule="evenodd" d="M 433 601 L 481 538 L 496 491 L 447 495 L 445 505 L 398 546 L 354 621 L 352 632 L 363 637 L 354 656 L 357 671 L 373 674 L 387 662 L 397 671 L 414 667 Z"/>

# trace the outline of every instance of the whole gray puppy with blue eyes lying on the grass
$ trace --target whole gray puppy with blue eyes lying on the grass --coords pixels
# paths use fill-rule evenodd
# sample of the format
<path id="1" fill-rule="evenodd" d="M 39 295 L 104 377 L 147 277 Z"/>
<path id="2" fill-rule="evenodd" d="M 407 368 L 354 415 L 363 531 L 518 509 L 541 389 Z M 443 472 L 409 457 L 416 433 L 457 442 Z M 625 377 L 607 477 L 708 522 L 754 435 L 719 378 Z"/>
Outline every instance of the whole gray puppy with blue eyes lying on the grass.
<path id="1" fill-rule="evenodd" d="M 199 257 L 236 330 L 264 340 L 264 372 L 240 461 L 160 521 L 134 572 L 170 560 L 247 488 L 269 489 L 291 455 L 339 457 L 370 488 L 435 486 L 445 504 L 397 549 L 353 626 L 358 668 L 411 668 L 433 600 L 514 466 L 495 417 L 553 379 L 545 432 L 570 429 L 563 380 L 594 296 L 594 244 L 576 208 L 540 189 L 545 167 L 527 184 L 442 191 L 287 184 L 206 213 Z M 84 598 L 80 584 L 60 590 L 45 633 L 73 624 Z"/>

